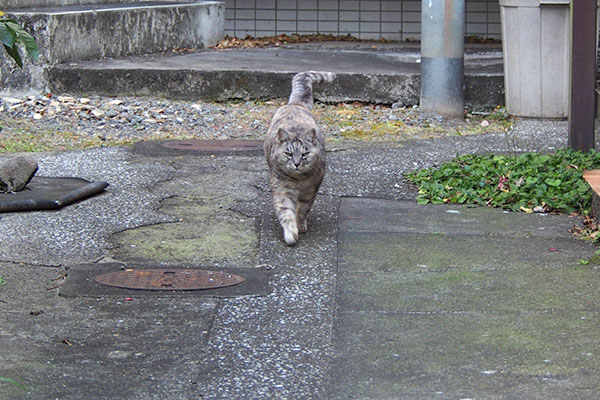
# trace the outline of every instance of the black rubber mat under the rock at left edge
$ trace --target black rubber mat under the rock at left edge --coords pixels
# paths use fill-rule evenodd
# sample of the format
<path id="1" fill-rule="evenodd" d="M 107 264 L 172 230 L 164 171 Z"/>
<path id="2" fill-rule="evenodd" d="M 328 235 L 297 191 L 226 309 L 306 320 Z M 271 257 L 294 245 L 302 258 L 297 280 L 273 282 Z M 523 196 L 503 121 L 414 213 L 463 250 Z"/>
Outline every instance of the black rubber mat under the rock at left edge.
<path id="1" fill-rule="evenodd" d="M 0 193 L 0 212 L 57 210 L 102 192 L 108 183 L 34 176 L 25 190 Z"/>

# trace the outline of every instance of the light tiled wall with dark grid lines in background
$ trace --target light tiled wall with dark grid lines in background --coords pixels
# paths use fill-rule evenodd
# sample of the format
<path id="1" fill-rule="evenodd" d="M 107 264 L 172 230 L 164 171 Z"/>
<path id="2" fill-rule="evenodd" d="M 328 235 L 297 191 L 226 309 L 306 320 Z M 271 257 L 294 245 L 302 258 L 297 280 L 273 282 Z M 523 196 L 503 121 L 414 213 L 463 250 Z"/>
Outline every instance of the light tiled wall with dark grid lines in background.
<path id="1" fill-rule="evenodd" d="M 225 0 L 225 34 L 282 33 L 419 40 L 419 0 Z M 500 39 L 498 0 L 466 0 L 467 35 Z"/>

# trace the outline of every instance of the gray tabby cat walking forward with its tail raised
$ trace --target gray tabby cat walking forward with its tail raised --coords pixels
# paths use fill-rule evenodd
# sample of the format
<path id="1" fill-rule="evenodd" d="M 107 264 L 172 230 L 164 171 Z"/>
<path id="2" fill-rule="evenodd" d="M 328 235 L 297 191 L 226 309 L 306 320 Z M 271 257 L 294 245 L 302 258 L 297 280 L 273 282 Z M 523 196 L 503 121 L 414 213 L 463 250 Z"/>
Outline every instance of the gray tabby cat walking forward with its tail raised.
<path id="1" fill-rule="evenodd" d="M 311 113 L 312 85 L 334 79 L 331 72 L 294 76 L 288 104 L 275 112 L 265 139 L 273 206 L 290 246 L 306 232 L 306 218 L 325 176 L 325 143 Z"/>

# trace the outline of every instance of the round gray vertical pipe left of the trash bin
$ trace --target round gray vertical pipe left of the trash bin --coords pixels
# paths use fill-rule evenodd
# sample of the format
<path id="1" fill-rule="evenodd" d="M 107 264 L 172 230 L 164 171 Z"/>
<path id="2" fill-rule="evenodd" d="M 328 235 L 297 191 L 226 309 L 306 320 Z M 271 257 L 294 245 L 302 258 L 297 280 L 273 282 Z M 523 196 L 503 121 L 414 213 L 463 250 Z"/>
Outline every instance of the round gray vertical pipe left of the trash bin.
<path id="1" fill-rule="evenodd" d="M 463 118 L 465 0 L 421 3 L 421 113 Z"/>

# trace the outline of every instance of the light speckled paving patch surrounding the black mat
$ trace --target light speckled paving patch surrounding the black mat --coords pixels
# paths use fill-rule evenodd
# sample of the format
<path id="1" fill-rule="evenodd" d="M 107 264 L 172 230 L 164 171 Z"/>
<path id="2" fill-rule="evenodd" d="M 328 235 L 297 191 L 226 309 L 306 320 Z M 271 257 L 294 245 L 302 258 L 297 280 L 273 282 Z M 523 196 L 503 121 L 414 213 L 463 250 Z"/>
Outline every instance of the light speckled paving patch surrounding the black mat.
<path id="1" fill-rule="evenodd" d="M 38 153 L 35 158 L 40 176 L 78 176 L 109 186 L 101 196 L 58 211 L 3 213 L 2 261 L 44 266 L 94 262 L 106 256 L 111 233 L 175 220 L 157 211 L 164 194 L 154 189 L 173 176 L 169 165 L 132 163 L 127 149 L 116 147 Z"/>

